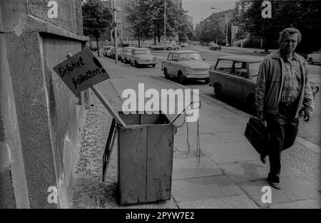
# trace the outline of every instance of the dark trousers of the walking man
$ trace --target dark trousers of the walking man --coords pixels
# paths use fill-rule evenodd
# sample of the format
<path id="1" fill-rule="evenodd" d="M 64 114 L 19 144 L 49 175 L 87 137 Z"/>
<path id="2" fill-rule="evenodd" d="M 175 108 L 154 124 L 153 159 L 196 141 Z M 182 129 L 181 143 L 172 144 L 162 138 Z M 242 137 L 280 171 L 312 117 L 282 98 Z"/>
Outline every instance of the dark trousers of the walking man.
<path id="1" fill-rule="evenodd" d="M 281 153 L 291 147 L 297 137 L 299 125 L 298 118 L 295 118 L 297 104 L 279 104 L 277 115 L 270 113 L 265 115 L 267 129 L 270 132 L 270 149 L 268 151 L 270 160 L 270 173 L 268 177 L 273 182 L 280 182 Z"/>

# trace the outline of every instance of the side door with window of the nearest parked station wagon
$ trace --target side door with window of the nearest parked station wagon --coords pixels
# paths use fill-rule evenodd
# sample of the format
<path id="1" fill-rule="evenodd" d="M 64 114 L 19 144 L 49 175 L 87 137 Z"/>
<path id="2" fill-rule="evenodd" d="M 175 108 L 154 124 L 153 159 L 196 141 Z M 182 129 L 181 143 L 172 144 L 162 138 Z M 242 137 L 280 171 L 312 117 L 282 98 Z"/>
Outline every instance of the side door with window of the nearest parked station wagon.
<path id="1" fill-rule="evenodd" d="M 248 68 L 245 62 L 233 62 L 232 71 L 227 74 L 226 90 L 228 95 L 236 100 L 243 100 L 243 88 Z"/>

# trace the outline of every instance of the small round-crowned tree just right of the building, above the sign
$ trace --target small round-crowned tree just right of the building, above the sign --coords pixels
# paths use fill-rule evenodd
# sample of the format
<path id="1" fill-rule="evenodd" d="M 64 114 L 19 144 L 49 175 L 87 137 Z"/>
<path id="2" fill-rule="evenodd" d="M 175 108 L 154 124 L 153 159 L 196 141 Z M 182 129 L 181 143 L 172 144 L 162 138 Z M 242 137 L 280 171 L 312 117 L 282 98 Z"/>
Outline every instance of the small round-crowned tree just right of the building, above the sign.
<path id="1" fill-rule="evenodd" d="M 98 38 L 100 38 L 101 34 L 106 32 L 108 28 L 111 28 L 113 16 L 111 15 L 111 11 L 99 0 L 88 0 L 82 9 L 83 34 L 96 38 L 98 56 L 100 56 Z"/>

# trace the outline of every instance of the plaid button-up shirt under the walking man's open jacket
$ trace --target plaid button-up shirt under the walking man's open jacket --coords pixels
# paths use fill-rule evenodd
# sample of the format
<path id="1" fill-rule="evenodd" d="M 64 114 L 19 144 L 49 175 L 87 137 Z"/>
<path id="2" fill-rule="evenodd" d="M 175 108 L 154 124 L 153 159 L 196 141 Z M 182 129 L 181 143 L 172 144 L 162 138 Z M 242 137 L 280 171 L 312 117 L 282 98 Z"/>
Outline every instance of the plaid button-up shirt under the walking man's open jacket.
<path id="1" fill-rule="evenodd" d="M 296 57 L 283 58 L 285 66 L 285 80 L 280 102 L 293 103 L 300 97 L 302 91 L 302 72 Z"/>

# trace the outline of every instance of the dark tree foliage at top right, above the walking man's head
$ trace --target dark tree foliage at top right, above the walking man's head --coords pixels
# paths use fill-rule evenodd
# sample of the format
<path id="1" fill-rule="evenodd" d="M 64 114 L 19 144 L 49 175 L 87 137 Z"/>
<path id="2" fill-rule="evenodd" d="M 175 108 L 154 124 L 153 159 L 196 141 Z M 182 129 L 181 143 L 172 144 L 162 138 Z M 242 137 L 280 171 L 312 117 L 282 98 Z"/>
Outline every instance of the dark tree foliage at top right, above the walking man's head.
<path id="1" fill-rule="evenodd" d="M 270 0 L 272 18 L 263 19 L 263 0 L 240 0 L 240 6 L 248 8 L 238 14 L 235 21 L 251 36 L 263 38 L 265 48 L 278 47 L 280 31 L 287 27 L 298 28 L 302 33 L 302 43 L 298 50 L 312 51 L 320 48 L 319 36 L 315 32 L 321 28 L 321 1 L 279 1 Z M 315 46 L 317 44 L 317 46 Z"/>

